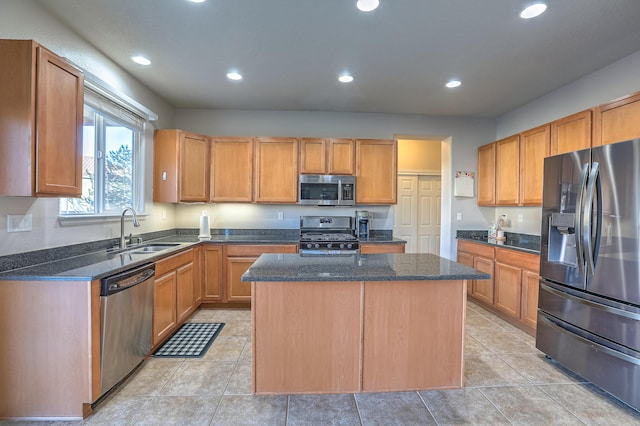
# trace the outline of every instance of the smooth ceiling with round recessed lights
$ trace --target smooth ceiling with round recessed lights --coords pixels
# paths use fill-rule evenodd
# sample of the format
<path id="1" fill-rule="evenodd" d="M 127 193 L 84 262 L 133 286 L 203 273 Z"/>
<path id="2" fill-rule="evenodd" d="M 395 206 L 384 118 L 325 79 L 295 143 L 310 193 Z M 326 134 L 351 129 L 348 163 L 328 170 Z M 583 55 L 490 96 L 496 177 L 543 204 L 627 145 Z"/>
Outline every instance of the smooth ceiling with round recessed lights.
<path id="1" fill-rule="evenodd" d="M 177 108 L 495 117 L 640 49 L 640 0 L 39 1 Z"/>

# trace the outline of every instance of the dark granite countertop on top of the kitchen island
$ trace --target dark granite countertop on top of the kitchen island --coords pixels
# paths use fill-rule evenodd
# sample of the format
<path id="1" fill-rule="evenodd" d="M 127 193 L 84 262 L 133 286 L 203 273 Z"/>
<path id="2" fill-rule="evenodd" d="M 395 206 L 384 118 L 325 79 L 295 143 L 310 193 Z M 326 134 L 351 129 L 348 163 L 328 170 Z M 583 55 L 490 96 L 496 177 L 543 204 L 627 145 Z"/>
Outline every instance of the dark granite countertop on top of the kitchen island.
<path id="1" fill-rule="evenodd" d="M 414 281 L 489 279 L 434 254 L 300 256 L 263 254 L 242 281 Z"/>

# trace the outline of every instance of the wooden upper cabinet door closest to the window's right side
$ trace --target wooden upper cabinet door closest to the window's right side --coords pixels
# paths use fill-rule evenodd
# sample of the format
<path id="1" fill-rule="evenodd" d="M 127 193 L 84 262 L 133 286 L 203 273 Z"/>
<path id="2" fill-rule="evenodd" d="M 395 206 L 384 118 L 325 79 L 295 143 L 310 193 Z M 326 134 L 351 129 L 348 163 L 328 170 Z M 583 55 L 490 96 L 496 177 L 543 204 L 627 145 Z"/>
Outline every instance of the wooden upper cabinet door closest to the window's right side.
<path id="1" fill-rule="evenodd" d="M 180 157 L 180 201 L 208 201 L 208 139 L 205 136 L 181 133 Z"/>

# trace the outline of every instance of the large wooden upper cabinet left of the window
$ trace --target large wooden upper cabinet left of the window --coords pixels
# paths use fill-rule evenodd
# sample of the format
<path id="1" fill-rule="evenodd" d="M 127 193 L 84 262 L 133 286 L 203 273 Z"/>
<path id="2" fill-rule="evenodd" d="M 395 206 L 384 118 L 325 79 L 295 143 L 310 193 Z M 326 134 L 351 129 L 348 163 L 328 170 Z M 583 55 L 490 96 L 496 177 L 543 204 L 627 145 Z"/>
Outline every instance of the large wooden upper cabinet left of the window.
<path id="1" fill-rule="evenodd" d="M 82 195 L 82 72 L 32 40 L 0 40 L 0 93 L 0 196 Z"/>

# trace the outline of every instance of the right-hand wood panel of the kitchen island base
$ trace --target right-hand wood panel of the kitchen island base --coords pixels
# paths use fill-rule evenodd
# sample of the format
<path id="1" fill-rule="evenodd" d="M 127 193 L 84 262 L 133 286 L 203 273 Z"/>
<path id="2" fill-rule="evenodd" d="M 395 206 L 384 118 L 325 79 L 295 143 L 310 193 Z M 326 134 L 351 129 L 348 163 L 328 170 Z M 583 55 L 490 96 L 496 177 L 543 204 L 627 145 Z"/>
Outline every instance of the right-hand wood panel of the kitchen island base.
<path id="1" fill-rule="evenodd" d="M 365 283 L 362 390 L 463 386 L 464 281 Z"/>

